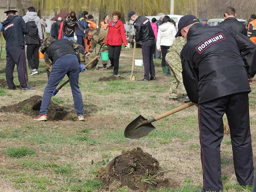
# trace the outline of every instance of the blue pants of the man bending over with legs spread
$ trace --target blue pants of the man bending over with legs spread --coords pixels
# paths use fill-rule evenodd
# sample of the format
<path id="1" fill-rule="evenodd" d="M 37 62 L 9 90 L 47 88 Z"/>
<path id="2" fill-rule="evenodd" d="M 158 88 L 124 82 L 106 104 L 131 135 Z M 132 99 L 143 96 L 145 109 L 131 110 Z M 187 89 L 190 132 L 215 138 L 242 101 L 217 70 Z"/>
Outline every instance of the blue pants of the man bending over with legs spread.
<path id="1" fill-rule="evenodd" d="M 79 79 L 79 63 L 77 56 L 72 55 L 63 55 L 59 59 L 55 61 L 52 66 L 52 71 L 50 73 L 50 77 L 48 79 L 48 83 L 44 89 L 41 109 L 39 114 L 47 114 L 52 92 L 63 79 L 63 77 L 67 74 L 69 79 L 69 84 L 71 87 L 74 105 L 76 109 L 77 115 L 83 115 L 83 99 L 80 88 L 78 86 Z"/>

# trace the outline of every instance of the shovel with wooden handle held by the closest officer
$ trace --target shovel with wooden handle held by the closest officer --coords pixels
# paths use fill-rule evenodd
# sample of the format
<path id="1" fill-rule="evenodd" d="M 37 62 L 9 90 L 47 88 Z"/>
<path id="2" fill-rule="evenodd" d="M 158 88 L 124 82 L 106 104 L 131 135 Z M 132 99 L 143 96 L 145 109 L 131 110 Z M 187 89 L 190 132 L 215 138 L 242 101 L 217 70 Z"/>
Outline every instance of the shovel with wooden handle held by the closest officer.
<path id="1" fill-rule="evenodd" d="M 124 130 L 124 137 L 130 139 L 139 139 L 141 137 L 144 137 L 149 132 L 156 129 L 156 127 L 151 124 L 152 122 L 162 119 L 166 116 L 172 115 L 188 107 L 191 107 L 192 105 L 194 104 L 192 102 L 189 102 L 185 105 L 172 109 L 171 111 L 167 111 L 161 115 L 158 115 L 150 119 L 145 119 L 143 116 L 140 115 L 136 119 L 134 119 L 129 125 L 127 125 L 127 127 Z"/>

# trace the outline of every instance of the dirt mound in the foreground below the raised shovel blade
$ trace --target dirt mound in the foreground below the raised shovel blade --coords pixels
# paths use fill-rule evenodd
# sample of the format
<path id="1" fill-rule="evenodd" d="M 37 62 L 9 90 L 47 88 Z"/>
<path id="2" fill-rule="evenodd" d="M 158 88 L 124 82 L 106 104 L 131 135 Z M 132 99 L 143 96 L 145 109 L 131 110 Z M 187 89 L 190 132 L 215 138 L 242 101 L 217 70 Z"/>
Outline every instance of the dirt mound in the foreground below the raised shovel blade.
<path id="1" fill-rule="evenodd" d="M 106 189 L 113 190 L 127 186 L 132 190 L 148 190 L 152 188 L 174 187 L 172 183 L 161 178 L 159 162 L 141 148 L 134 148 L 131 151 L 123 151 L 106 168 L 99 168 L 98 178 L 103 180 Z"/>

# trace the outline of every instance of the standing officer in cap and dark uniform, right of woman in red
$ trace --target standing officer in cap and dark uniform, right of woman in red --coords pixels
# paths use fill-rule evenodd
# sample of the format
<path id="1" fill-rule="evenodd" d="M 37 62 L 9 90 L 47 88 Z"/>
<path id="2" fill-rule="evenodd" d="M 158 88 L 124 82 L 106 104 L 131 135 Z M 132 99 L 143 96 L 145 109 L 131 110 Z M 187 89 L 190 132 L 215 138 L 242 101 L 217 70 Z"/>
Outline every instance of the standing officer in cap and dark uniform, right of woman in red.
<path id="1" fill-rule="evenodd" d="M 156 80 L 156 72 L 153 61 L 155 35 L 147 17 L 138 16 L 134 11 L 128 13 L 128 21 L 134 21 L 135 42 L 142 42 L 142 57 L 144 64 L 144 78 L 140 81 Z M 149 78 L 150 74 L 150 78 Z"/>

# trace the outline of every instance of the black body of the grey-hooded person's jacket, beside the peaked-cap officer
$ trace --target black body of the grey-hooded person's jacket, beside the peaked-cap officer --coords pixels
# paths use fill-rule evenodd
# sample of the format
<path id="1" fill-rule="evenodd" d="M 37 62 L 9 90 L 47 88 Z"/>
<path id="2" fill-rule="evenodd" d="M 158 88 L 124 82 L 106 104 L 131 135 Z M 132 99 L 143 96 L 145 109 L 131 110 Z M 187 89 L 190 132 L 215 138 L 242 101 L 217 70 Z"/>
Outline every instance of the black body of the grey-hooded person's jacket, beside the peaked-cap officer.
<path id="1" fill-rule="evenodd" d="M 36 22 L 31 20 L 27 22 L 29 33 L 25 35 L 25 42 L 26 44 L 40 44 L 39 35 L 38 35 L 38 28 L 36 26 Z"/>

